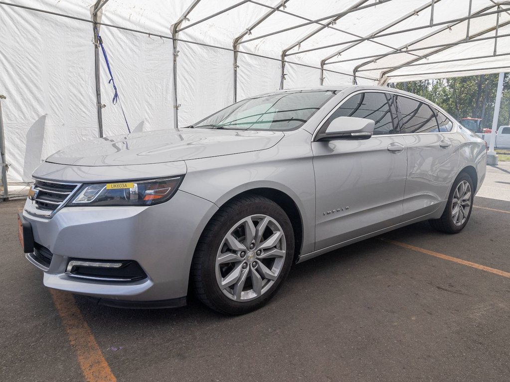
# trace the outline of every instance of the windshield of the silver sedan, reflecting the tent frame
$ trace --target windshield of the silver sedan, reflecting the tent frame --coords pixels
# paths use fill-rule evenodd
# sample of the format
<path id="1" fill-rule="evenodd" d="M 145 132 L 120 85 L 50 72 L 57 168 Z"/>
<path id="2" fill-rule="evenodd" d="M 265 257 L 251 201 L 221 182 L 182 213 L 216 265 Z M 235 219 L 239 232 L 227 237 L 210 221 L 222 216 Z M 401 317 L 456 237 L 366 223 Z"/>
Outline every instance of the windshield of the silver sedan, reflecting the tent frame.
<path id="1" fill-rule="evenodd" d="M 289 131 L 301 127 L 327 100 L 335 95 L 333 90 L 296 91 L 271 94 L 228 106 L 194 128 Z"/>

